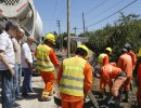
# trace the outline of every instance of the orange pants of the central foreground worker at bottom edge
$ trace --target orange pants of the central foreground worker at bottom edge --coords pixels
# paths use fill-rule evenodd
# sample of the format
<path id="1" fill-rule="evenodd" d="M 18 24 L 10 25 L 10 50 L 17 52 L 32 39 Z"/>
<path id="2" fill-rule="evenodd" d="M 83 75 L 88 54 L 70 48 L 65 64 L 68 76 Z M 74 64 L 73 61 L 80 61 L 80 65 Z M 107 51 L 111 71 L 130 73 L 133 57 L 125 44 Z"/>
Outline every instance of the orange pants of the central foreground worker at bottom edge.
<path id="1" fill-rule="evenodd" d="M 62 108 L 82 108 L 84 99 L 78 102 L 66 102 L 62 99 Z"/>

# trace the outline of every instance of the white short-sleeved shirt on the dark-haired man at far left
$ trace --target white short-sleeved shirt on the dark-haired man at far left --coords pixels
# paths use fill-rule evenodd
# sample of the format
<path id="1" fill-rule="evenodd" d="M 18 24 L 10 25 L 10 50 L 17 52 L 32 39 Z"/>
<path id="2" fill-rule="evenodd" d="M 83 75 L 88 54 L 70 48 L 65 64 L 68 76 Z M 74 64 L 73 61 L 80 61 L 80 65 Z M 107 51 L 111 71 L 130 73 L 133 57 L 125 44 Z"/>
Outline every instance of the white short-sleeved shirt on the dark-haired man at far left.
<path id="1" fill-rule="evenodd" d="M 15 64 L 13 43 L 11 40 L 11 36 L 8 35 L 5 31 L 3 31 L 0 35 L 0 50 L 4 51 L 4 58 L 13 68 Z M 3 65 L 3 63 L 0 62 L 0 70 L 7 70 L 7 69 L 8 68 L 5 67 L 5 65 Z"/>

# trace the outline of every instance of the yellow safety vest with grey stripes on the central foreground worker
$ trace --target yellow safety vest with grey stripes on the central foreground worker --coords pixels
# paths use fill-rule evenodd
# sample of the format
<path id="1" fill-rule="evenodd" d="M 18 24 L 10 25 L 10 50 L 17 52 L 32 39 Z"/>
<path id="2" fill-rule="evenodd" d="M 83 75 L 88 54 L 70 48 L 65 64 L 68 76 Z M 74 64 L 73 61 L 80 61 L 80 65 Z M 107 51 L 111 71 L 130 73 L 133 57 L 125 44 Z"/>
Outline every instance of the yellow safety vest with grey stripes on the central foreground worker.
<path id="1" fill-rule="evenodd" d="M 63 62 L 60 92 L 73 96 L 84 96 L 84 70 L 86 60 L 75 56 Z"/>

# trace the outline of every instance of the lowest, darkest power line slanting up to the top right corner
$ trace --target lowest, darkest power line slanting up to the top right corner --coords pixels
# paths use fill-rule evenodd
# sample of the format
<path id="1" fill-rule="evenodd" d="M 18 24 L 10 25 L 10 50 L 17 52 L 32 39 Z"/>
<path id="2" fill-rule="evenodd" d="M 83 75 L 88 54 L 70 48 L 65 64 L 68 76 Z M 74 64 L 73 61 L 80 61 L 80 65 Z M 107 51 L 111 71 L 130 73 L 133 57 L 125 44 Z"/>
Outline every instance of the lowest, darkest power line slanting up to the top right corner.
<path id="1" fill-rule="evenodd" d="M 137 1 L 137 0 L 134 0 L 134 1 L 132 1 L 132 2 L 130 2 L 129 4 L 127 4 L 126 6 L 124 6 L 123 9 L 120 9 L 120 10 L 116 11 L 115 13 L 113 13 L 113 14 L 108 15 L 107 17 L 105 17 L 105 18 L 103 18 L 103 19 L 101 19 L 101 21 L 99 21 L 99 22 L 97 22 L 97 23 L 94 23 L 94 24 L 91 24 L 91 25 L 89 25 L 89 26 L 87 26 L 87 27 L 91 27 L 91 26 L 93 26 L 93 25 L 97 25 L 97 24 L 99 24 L 99 23 L 101 23 L 101 22 L 103 22 L 103 21 L 105 21 L 105 19 L 107 19 L 107 18 L 112 17 L 113 15 L 115 15 L 115 14 L 117 14 L 118 12 L 120 12 L 121 10 L 124 10 L 124 9 L 128 8 L 129 5 L 131 5 L 132 3 L 134 3 L 136 1 Z"/>

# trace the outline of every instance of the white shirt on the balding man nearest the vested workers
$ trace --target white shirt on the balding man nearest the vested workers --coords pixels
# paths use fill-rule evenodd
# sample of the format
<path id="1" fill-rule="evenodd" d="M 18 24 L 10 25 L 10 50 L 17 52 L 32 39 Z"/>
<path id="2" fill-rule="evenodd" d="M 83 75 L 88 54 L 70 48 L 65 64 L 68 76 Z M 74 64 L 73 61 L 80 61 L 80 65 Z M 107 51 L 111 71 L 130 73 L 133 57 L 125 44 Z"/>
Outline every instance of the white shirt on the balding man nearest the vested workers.
<path id="1" fill-rule="evenodd" d="M 33 66 L 33 55 L 27 43 L 22 44 L 22 67 L 28 68 L 25 59 L 28 58 L 30 65 Z"/>

